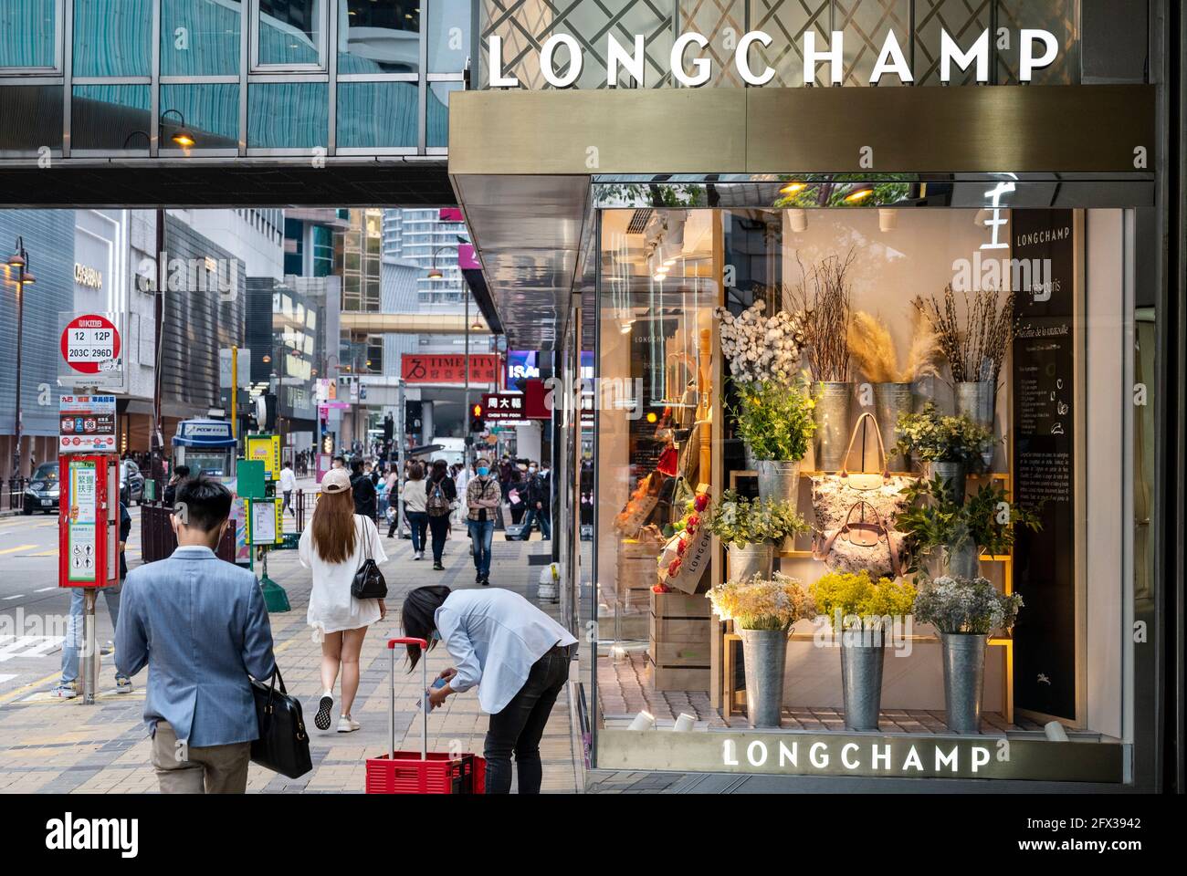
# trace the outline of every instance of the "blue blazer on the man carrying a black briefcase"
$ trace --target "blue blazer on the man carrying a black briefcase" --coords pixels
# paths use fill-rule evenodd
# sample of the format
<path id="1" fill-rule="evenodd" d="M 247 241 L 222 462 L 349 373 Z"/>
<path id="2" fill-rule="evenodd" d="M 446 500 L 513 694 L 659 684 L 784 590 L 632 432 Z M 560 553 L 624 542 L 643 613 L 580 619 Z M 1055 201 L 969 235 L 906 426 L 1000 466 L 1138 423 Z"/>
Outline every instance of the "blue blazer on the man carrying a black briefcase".
<path id="1" fill-rule="evenodd" d="M 259 737 L 248 675 L 275 672 L 272 627 L 255 576 L 208 547 L 178 547 L 133 569 L 115 628 L 115 666 L 148 667 L 145 724 L 167 721 L 193 748 Z"/>

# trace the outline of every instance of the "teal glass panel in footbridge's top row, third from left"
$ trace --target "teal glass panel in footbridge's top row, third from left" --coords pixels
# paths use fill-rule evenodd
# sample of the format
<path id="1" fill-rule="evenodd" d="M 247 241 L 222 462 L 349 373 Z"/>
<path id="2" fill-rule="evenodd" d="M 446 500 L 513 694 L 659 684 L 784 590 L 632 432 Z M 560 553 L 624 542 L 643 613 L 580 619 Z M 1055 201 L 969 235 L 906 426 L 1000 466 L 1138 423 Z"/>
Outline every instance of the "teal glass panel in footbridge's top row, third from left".
<path id="1" fill-rule="evenodd" d="M 163 76 L 234 76 L 239 72 L 241 4 L 161 0 Z"/>

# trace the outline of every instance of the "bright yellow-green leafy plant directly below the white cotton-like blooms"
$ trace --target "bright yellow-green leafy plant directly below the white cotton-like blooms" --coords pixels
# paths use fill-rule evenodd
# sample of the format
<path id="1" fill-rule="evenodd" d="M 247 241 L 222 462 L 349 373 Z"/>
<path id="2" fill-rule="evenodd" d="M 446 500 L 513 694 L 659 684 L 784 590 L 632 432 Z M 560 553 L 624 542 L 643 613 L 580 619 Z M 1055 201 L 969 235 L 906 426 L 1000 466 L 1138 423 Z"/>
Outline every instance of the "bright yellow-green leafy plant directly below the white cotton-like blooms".
<path id="1" fill-rule="evenodd" d="M 738 405 L 734 415 L 738 436 L 756 459 L 796 462 L 808 451 L 815 432 L 815 402 L 801 376 L 792 386 L 775 382 L 736 382 Z"/>

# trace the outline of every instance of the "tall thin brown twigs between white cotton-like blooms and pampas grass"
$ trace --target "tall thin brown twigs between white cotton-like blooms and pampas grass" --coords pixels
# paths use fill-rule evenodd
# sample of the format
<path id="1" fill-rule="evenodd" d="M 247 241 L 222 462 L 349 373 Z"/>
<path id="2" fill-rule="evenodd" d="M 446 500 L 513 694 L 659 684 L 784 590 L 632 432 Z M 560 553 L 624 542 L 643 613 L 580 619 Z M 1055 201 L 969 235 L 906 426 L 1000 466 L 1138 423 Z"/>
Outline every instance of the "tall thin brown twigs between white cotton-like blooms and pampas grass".
<path id="1" fill-rule="evenodd" d="M 853 290 L 848 272 L 856 258 L 850 249 L 844 259 L 831 255 L 805 268 L 799 255 L 795 256 L 804 280 L 792 297 L 796 310 L 804 313 L 805 347 L 814 381 L 844 383 L 850 380 L 849 326 Z"/>

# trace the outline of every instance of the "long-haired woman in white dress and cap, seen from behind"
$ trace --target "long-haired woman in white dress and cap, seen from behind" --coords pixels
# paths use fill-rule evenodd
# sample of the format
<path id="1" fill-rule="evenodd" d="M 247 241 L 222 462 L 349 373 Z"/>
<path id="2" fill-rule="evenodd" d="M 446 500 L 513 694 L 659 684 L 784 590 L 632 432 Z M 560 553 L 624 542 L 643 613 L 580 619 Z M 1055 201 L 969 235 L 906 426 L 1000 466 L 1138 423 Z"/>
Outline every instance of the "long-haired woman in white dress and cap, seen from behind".
<path id="1" fill-rule="evenodd" d="M 342 669 L 342 709 L 338 732 L 358 729 L 350 717 L 358 692 L 358 654 L 367 628 L 387 615 L 382 599 L 356 599 L 350 592 L 355 572 L 368 557 L 387 561 L 375 521 L 355 514 L 350 477 L 345 469 L 332 469 L 322 480 L 322 497 L 313 519 L 300 535 L 300 563 L 313 570 L 309 596 L 309 626 L 315 641 L 322 642 L 322 698 L 313 726 L 330 729 L 334 710 L 334 683 Z"/>

